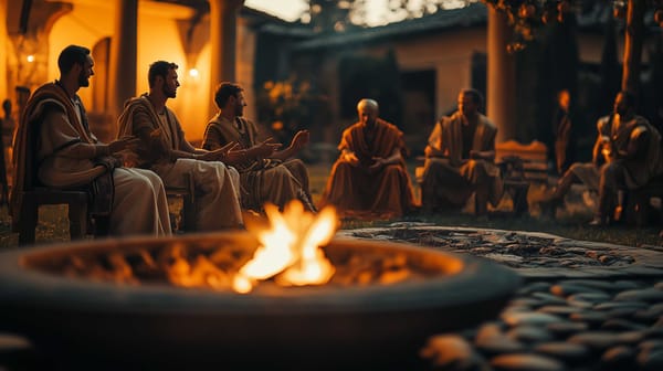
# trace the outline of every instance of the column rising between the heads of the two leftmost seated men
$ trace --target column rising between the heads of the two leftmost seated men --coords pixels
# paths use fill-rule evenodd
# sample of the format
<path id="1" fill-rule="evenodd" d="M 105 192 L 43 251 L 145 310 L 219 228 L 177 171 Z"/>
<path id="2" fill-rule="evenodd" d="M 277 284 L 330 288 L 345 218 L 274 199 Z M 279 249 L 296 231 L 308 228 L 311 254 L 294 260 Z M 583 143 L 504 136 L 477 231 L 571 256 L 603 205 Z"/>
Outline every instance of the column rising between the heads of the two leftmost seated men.
<path id="1" fill-rule="evenodd" d="M 138 0 L 116 0 L 115 33 L 110 39 L 108 108 L 113 121 L 136 94 Z"/>

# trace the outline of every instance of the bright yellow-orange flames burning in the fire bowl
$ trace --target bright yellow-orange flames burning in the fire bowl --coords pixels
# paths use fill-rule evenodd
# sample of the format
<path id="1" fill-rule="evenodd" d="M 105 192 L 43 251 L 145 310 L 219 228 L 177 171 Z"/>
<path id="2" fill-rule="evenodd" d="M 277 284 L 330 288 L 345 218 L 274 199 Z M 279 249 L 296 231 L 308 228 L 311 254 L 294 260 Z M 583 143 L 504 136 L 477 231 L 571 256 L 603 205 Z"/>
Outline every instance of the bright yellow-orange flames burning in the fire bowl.
<path id="1" fill-rule="evenodd" d="M 265 205 L 265 214 L 271 229 L 256 232 L 261 245 L 234 277 L 233 289 L 245 294 L 256 280 L 271 277 L 284 286 L 327 283 L 334 266 L 320 246 L 336 232 L 334 209 L 327 206 L 314 215 L 299 201 L 291 201 L 283 213 L 273 204 Z"/>

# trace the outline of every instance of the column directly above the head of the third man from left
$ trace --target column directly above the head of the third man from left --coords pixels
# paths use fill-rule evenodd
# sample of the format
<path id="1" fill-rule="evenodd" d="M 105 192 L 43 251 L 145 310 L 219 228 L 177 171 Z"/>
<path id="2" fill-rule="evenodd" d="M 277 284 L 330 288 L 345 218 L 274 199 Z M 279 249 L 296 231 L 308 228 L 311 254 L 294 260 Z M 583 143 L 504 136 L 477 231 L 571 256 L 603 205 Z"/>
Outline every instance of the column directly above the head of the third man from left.
<path id="1" fill-rule="evenodd" d="M 222 81 L 235 81 L 236 17 L 244 0 L 210 1 L 210 89 Z M 211 92 L 213 95 L 213 92 Z M 213 108 L 213 107 L 212 107 Z"/>

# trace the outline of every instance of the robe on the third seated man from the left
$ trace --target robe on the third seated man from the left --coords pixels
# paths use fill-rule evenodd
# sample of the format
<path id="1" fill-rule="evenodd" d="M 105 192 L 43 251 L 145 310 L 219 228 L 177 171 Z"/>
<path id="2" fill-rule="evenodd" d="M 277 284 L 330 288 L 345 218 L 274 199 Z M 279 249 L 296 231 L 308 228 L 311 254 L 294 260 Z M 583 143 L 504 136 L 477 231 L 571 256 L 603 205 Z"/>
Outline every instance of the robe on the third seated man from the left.
<path id="1" fill-rule="evenodd" d="M 214 150 L 230 142 L 238 142 L 240 149 L 254 147 L 255 124 L 241 117 L 235 119 L 236 123 L 231 123 L 217 114 L 207 125 L 202 148 Z M 265 202 L 283 209 L 288 201 L 299 200 L 307 210 L 315 210 L 308 191 L 308 172 L 302 160 L 249 159 L 236 168 L 244 209 L 260 212 Z"/>

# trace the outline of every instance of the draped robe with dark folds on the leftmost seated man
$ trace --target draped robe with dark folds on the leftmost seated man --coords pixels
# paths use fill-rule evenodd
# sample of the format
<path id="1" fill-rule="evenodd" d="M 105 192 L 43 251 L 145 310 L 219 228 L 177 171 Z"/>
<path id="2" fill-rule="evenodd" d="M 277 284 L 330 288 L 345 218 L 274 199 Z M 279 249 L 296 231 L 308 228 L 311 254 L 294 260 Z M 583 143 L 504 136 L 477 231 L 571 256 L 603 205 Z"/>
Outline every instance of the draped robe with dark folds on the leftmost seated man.
<path id="1" fill-rule="evenodd" d="M 64 88 L 49 83 L 28 102 L 14 138 L 14 219 L 19 218 L 24 190 L 34 186 L 78 189 L 112 171 L 109 234 L 170 234 L 168 201 L 157 174 L 141 169 L 107 170 L 98 165 L 99 158 L 81 157 L 80 147 L 97 140 L 87 127 L 82 103 L 75 99 L 80 108 Z"/>

